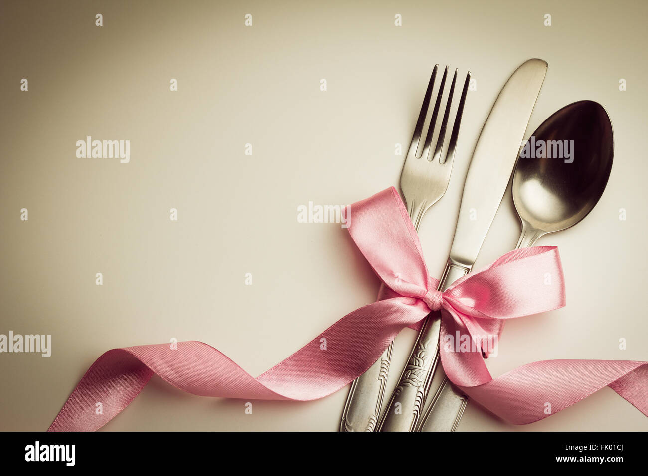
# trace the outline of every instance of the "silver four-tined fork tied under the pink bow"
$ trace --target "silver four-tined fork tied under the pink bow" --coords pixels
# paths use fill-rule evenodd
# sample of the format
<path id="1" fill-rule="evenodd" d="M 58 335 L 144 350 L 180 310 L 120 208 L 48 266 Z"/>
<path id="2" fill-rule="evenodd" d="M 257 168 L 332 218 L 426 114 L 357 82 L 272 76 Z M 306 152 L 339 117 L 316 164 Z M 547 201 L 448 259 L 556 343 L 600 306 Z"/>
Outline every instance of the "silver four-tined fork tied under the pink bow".
<path id="1" fill-rule="evenodd" d="M 434 103 L 434 109 L 432 109 L 430 126 L 428 127 L 428 132 L 423 143 L 422 152 L 419 155 L 417 152 L 421 145 L 423 126 L 428 115 L 428 106 L 430 106 L 430 98 L 432 98 L 432 89 L 434 89 L 438 69 L 439 65 L 435 65 L 432 70 L 432 76 L 430 76 L 430 82 L 428 82 L 428 87 L 425 91 L 419 119 L 416 122 L 414 134 L 411 138 L 410 148 L 405 158 L 403 170 L 400 173 L 400 190 L 404 197 L 410 220 L 414 225 L 414 229 L 417 231 L 425 212 L 445 194 L 448 188 L 450 172 L 452 172 L 452 159 L 454 159 L 457 136 L 459 135 L 461 114 L 463 113 L 463 105 L 470 82 L 469 72 L 463 84 L 461 98 L 459 98 L 452 132 L 450 133 L 450 141 L 448 142 L 448 149 L 442 161 L 443 142 L 445 141 L 446 128 L 450 117 L 457 72 L 459 71 L 458 69 L 454 71 L 452 84 L 450 84 L 450 91 L 446 100 L 445 112 L 443 113 L 443 119 L 441 120 L 441 126 L 433 152 L 432 139 L 437 116 L 439 115 L 441 99 L 443 98 L 446 77 L 448 76 L 448 67 L 445 67 L 443 78 L 441 78 L 441 83 L 439 84 L 439 92 Z M 380 297 L 383 294 L 384 286 L 384 284 L 380 286 L 378 300 L 381 299 Z M 347 397 L 347 403 L 342 413 L 340 431 L 374 431 L 382 407 L 392 348 L 393 342 L 389 344 L 388 348 L 382 353 L 382 356 L 376 360 L 369 370 L 353 381 L 349 396 Z"/>

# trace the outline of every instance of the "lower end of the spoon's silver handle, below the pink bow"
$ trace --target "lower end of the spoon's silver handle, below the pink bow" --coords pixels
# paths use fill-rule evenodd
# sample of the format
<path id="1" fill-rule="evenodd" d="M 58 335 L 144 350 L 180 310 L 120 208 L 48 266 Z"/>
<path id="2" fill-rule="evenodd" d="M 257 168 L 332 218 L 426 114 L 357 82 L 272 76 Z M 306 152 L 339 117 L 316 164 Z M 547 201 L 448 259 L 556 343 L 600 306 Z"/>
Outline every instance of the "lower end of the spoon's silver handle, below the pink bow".
<path id="1" fill-rule="evenodd" d="M 443 372 L 443 369 L 439 368 L 437 372 Z M 466 403 L 468 397 L 445 377 L 421 419 L 418 431 L 455 431 Z"/>

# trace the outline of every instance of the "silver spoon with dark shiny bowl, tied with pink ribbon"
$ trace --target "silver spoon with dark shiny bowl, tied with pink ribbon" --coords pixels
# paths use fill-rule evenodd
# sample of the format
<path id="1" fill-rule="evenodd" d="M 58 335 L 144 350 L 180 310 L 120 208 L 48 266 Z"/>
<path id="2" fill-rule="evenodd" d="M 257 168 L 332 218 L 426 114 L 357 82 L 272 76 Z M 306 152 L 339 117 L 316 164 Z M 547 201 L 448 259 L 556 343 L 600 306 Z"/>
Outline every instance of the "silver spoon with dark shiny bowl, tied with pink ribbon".
<path id="1" fill-rule="evenodd" d="M 612 124 L 597 102 L 572 102 L 542 122 L 513 171 L 513 203 L 522 223 L 515 249 L 583 220 L 605 190 L 613 155 Z M 445 378 L 419 431 L 454 431 L 467 400 Z"/>

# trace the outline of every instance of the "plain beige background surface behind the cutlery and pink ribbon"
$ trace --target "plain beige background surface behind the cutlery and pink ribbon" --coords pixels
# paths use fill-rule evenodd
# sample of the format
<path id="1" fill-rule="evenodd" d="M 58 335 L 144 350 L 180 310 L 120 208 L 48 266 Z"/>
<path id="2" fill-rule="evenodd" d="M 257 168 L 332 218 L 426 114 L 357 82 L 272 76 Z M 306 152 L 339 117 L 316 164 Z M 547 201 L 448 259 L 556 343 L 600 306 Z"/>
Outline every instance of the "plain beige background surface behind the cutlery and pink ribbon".
<path id="1" fill-rule="evenodd" d="M 0 429 L 47 429 L 109 348 L 198 339 L 256 375 L 371 302 L 378 281 L 347 232 L 297 223 L 295 210 L 397 185 L 394 144 L 408 146 L 435 63 L 477 80 L 450 187 L 421 225 L 435 273 L 481 125 L 520 63 L 549 63 L 527 135 L 579 99 L 601 102 L 614 126 L 614 166 L 596 209 L 538 243 L 561 249 L 568 306 L 508 324 L 492 374 L 540 359 L 648 360 L 645 2 L 1 5 L 0 333 L 52 334 L 53 350 L 49 359 L 0 354 Z M 179 91 L 169 91 L 171 78 Z M 130 140 L 130 163 L 77 159 L 87 135 Z M 512 249 L 518 233 L 507 193 L 476 265 Z M 413 334 L 399 335 L 393 368 Z M 255 402 L 250 416 L 244 401 L 154 378 L 104 429 L 334 431 L 346 396 Z M 459 429 L 645 431 L 648 418 L 606 388 L 524 427 L 470 405 Z"/>

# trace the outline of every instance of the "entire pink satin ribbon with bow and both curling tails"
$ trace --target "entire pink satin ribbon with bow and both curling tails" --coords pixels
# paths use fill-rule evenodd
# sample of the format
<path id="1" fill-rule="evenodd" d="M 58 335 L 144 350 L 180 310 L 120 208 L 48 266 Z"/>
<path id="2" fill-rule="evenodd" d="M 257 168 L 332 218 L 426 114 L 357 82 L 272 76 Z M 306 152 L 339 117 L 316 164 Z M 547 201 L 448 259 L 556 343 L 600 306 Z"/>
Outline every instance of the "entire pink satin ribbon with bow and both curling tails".
<path id="1" fill-rule="evenodd" d="M 199 341 L 179 342 L 177 348 L 165 343 L 108 350 L 87 370 L 49 430 L 102 427 L 132 402 L 153 374 L 202 396 L 316 400 L 351 383 L 402 328 L 417 326 L 430 311 L 438 310 L 446 375 L 503 419 L 534 422 L 548 416 L 548 403 L 553 414 L 606 385 L 648 415 L 645 362 L 550 360 L 496 379 L 489 374 L 482 351 L 492 349 L 485 348 L 481 336 L 499 336 L 506 319 L 564 306 L 557 248 L 512 251 L 441 293 L 395 188 L 354 203 L 345 212 L 351 237 L 384 283 L 381 300 L 345 315 L 257 378 Z M 461 341 L 458 347 L 451 342 L 455 337 Z M 326 346 L 321 346 L 321 339 L 326 339 Z M 97 403 L 102 405 L 100 413 Z"/>

